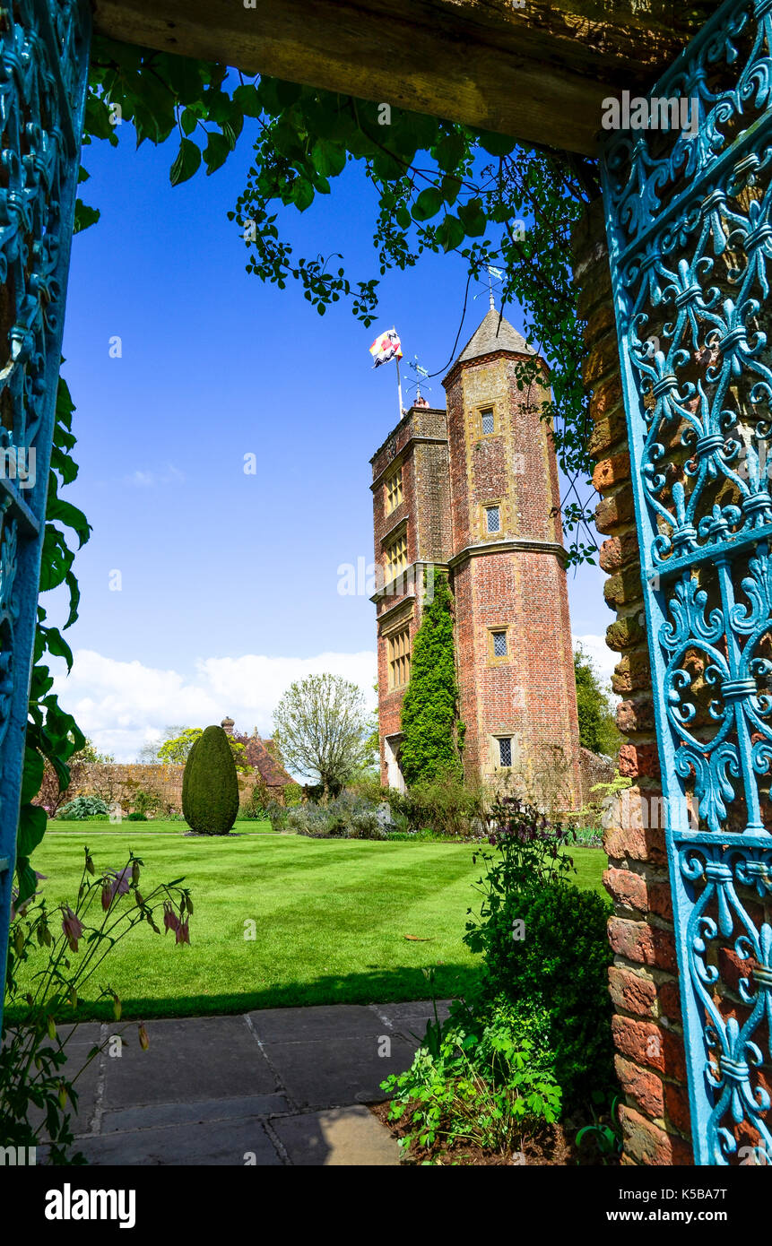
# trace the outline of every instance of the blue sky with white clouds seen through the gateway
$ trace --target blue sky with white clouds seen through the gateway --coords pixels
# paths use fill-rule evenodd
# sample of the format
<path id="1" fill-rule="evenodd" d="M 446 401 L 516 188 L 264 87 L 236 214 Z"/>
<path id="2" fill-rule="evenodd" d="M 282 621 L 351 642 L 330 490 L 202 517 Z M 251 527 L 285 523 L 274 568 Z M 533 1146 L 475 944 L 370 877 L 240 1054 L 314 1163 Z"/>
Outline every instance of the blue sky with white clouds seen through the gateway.
<path id="1" fill-rule="evenodd" d="M 299 288 L 244 270 L 226 213 L 247 131 L 217 173 L 172 188 L 175 150 L 136 151 L 128 126 L 117 148 L 85 150 L 81 193 L 102 216 L 74 240 L 64 340 L 81 467 L 65 496 L 94 533 L 76 562 L 75 668 L 57 690 L 121 760 L 171 723 L 231 714 L 269 734 L 282 690 L 311 670 L 369 690 L 374 607 L 338 592 L 340 564 L 373 558 L 369 459 L 398 419 L 394 369 L 373 371 L 368 346 L 395 324 L 405 361 L 443 368 L 466 282 L 463 260 L 427 255 L 382 280 L 373 329 L 343 303 L 319 316 Z M 343 252 L 349 278 L 377 274 L 373 192 L 357 169 L 279 221 L 298 255 Z M 488 309 L 486 289 L 473 293 L 459 349 Z M 521 328 L 518 308 L 506 314 Z M 602 579 L 582 569 L 569 586 L 572 629 L 605 672 Z M 46 604 L 61 616 L 56 594 Z"/>

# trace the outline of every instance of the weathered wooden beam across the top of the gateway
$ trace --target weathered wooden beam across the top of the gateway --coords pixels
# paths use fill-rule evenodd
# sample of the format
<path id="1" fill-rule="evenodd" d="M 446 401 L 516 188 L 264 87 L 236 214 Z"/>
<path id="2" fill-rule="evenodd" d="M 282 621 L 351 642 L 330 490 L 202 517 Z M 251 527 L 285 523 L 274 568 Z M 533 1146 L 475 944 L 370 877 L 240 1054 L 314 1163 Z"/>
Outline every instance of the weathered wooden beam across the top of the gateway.
<path id="1" fill-rule="evenodd" d="M 94 0 L 111 39 L 594 155 L 718 0 Z"/>

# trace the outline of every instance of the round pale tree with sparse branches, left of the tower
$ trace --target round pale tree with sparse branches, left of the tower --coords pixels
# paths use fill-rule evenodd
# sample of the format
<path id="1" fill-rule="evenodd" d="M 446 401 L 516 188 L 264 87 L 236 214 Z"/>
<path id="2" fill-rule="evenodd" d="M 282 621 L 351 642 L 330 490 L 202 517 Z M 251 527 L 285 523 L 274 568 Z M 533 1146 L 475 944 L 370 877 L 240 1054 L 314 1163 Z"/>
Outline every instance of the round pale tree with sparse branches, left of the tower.
<path id="1" fill-rule="evenodd" d="M 364 697 L 342 675 L 308 675 L 292 684 L 273 721 L 287 766 L 321 784 L 326 800 L 367 758 Z"/>

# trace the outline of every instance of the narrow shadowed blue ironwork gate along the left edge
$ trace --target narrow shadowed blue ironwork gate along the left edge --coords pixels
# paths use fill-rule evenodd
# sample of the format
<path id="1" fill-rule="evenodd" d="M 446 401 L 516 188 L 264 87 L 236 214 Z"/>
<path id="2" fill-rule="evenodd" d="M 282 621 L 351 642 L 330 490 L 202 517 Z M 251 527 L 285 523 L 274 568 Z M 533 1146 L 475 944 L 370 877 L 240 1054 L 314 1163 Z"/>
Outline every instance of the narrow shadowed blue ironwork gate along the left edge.
<path id="1" fill-rule="evenodd" d="M 80 0 L 0 9 L 0 1012 L 89 37 Z"/>

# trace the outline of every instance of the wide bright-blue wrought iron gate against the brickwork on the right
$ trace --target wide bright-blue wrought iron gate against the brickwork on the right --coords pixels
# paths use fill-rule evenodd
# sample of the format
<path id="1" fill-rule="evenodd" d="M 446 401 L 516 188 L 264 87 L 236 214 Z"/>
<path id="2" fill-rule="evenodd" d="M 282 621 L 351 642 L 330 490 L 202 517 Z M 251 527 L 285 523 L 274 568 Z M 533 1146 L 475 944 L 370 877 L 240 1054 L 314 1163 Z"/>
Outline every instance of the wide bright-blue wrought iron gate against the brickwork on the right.
<path id="1" fill-rule="evenodd" d="M 602 178 L 695 1163 L 772 1163 L 772 0 L 629 103 Z"/>

